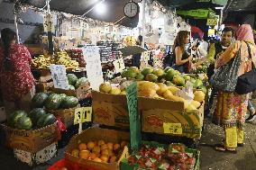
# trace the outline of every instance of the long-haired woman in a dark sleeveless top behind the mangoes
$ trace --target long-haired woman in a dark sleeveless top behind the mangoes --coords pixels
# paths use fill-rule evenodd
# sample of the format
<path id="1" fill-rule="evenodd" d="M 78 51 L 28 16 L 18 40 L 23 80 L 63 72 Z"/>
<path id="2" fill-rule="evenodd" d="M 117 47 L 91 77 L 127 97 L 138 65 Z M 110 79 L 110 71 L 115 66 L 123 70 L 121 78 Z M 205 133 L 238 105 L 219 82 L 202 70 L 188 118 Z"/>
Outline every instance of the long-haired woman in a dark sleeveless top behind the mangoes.
<path id="1" fill-rule="evenodd" d="M 188 73 L 189 67 L 191 67 L 192 64 L 192 56 L 190 56 L 185 49 L 188 42 L 189 32 L 178 31 L 173 45 L 173 58 L 175 59 L 173 68 L 177 69 L 180 73 Z"/>

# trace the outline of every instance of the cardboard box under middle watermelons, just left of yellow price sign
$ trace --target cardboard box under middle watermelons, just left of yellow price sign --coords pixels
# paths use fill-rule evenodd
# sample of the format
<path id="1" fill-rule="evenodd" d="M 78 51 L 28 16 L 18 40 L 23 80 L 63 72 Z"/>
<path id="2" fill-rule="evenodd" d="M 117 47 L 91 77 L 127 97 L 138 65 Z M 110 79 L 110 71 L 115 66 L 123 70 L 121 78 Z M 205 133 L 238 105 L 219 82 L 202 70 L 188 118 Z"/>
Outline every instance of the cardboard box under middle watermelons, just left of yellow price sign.
<path id="1" fill-rule="evenodd" d="M 74 124 L 75 110 L 76 110 L 76 107 L 70 108 L 70 109 L 49 111 L 49 112 L 54 114 L 54 116 L 59 117 L 59 119 L 65 124 L 66 128 L 69 128 Z"/>

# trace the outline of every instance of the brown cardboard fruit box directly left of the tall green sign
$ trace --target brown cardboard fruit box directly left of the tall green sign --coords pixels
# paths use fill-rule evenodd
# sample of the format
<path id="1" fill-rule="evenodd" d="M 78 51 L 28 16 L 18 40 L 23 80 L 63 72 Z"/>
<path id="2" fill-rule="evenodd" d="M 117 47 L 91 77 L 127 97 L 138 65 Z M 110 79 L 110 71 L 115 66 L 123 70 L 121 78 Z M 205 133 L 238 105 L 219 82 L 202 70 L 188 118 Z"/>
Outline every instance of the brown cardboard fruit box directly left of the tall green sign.
<path id="1" fill-rule="evenodd" d="M 92 92 L 93 122 L 129 129 L 129 113 L 125 95 Z"/>

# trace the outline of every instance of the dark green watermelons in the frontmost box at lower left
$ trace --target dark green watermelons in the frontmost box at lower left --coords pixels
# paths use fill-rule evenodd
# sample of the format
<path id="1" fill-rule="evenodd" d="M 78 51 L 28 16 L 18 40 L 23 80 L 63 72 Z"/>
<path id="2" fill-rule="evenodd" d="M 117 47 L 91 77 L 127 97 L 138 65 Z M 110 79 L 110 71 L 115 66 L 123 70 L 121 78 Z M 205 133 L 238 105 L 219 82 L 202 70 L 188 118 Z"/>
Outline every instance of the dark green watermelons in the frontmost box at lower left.
<path id="1" fill-rule="evenodd" d="M 45 127 L 56 121 L 53 114 L 45 112 L 41 108 L 35 108 L 31 112 L 15 111 L 7 120 L 7 125 L 19 130 L 35 130 Z"/>

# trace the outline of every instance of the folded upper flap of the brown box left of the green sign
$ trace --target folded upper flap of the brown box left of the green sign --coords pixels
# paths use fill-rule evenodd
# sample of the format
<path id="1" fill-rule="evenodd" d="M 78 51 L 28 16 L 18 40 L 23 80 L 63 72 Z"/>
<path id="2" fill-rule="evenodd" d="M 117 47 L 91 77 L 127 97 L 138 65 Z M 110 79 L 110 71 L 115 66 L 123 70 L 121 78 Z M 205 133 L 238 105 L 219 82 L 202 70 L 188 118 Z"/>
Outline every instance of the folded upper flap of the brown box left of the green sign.
<path id="1" fill-rule="evenodd" d="M 114 94 L 105 94 L 97 91 L 92 91 L 93 101 L 98 102 L 109 102 L 109 103 L 125 103 L 125 95 L 114 95 Z"/>

